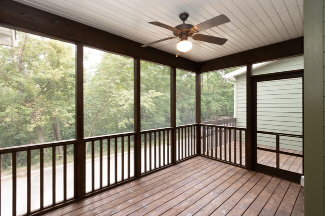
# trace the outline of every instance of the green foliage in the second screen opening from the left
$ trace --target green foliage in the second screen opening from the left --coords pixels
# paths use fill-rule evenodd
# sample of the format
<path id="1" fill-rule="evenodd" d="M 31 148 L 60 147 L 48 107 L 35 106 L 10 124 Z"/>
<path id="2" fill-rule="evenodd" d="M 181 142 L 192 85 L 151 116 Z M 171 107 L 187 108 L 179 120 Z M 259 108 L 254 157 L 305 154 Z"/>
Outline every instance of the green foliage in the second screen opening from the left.
<path id="1" fill-rule="evenodd" d="M 84 136 L 133 131 L 133 59 L 97 53 L 100 62 L 84 70 Z"/>

